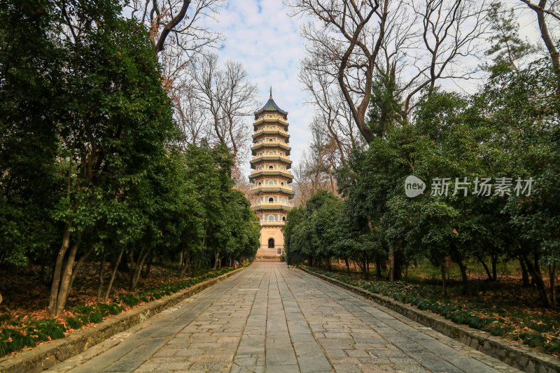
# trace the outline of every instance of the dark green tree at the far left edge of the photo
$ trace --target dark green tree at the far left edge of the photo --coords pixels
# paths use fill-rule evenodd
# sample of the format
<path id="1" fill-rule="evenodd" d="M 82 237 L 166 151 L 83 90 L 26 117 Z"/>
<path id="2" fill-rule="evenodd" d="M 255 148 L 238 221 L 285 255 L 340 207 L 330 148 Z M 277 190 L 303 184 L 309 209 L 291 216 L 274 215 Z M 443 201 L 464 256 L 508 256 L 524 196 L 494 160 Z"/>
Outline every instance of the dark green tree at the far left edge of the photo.
<path id="1" fill-rule="evenodd" d="M 0 5 L 0 264 L 49 258 L 57 237 L 50 210 L 61 192 L 58 154 L 62 97 L 60 22 L 52 1 Z"/>

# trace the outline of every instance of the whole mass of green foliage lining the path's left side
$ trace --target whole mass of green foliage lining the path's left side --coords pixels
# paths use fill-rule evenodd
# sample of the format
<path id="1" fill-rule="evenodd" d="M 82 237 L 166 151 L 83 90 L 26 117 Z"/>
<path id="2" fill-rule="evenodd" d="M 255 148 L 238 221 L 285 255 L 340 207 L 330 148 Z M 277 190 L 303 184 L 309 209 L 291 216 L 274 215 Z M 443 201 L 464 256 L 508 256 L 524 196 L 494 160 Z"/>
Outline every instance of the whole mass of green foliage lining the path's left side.
<path id="1" fill-rule="evenodd" d="M 232 189 L 232 155 L 177 146 L 148 30 L 121 12 L 116 0 L 0 5 L 0 264 L 61 258 L 71 273 L 67 246 L 76 260 L 124 249 L 216 267 L 256 253 L 259 227 Z M 49 311 L 62 314 L 56 281 L 68 279 L 53 278 Z"/>

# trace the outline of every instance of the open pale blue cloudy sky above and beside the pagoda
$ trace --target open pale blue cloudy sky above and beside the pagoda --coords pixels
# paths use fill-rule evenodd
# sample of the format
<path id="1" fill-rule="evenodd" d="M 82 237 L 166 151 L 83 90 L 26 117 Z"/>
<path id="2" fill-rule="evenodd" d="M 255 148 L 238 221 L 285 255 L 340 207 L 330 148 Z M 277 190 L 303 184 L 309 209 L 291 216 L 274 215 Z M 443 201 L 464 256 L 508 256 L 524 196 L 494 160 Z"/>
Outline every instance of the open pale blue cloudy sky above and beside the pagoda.
<path id="1" fill-rule="evenodd" d="M 216 51 L 221 62 L 233 59 L 245 66 L 249 80 L 258 85 L 258 100 L 263 105 L 272 85 L 274 102 L 288 111 L 290 157 L 296 164 L 309 142 L 307 126 L 313 108 L 304 106 L 305 94 L 297 81 L 304 55 L 300 25 L 287 11 L 280 0 L 226 1 L 218 22 L 209 22 L 209 27 L 225 37 L 223 47 Z M 250 171 L 248 162 L 244 171 Z"/>

